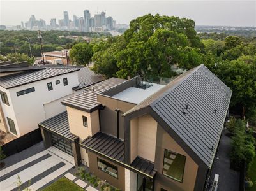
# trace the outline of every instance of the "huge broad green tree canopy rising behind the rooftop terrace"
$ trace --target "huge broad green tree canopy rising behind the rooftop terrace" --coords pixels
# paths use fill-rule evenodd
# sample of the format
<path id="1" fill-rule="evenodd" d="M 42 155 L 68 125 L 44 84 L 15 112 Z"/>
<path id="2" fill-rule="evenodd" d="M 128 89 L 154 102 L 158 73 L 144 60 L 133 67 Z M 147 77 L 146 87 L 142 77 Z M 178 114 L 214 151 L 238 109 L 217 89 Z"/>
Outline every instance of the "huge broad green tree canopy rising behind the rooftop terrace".
<path id="1" fill-rule="evenodd" d="M 93 48 L 96 73 L 120 78 L 174 75 L 173 64 L 190 69 L 201 64 L 195 22 L 186 18 L 144 15 L 130 22 L 122 36 L 103 41 Z"/>

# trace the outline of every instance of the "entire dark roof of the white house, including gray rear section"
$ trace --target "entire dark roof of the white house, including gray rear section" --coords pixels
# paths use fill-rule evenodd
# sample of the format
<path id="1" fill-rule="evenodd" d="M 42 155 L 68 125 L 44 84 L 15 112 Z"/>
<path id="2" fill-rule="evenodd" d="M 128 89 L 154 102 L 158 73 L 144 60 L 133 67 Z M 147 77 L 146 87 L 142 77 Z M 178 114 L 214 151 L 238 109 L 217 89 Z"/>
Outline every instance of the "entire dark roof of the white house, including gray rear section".
<path id="1" fill-rule="evenodd" d="M 52 64 L 30 66 L 27 62 L 1 62 L 0 73 L 3 73 L 3 76 L 0 75 L 0 85 L 8 89 L 74 71 L 78 71 L 79 80 L 79 85 L 73 87 L 75 91 L 105 80 L 103 76 L 95 74 L 89 67 Z M 8 75 L 4 75 L 5 73 Z"/>

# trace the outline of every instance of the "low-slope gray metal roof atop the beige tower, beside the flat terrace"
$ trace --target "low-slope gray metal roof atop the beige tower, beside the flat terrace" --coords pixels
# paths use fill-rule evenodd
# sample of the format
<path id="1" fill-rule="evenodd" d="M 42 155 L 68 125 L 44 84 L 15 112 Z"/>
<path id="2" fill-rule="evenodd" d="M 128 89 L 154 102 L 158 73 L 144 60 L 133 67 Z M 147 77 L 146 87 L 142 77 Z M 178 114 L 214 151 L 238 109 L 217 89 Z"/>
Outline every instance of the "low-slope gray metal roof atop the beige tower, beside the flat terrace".
<path id="1" fill-rule="evenodd" d="M 80 94 L 64 99 L 64 101 L 62 101 L 61 103 L 65 106 L 70 106 L 72 108 L 91 112 L 96 106 L 100 105 L 100 103 L 97 102 L 97 94 L 100 94 L 100 92 L 119 85 L 124 81 L 126 80 L 119 78 L 110 78 L 108 80 L 101 81 L 99 83 L 86 87 L 86 90 Z"/>

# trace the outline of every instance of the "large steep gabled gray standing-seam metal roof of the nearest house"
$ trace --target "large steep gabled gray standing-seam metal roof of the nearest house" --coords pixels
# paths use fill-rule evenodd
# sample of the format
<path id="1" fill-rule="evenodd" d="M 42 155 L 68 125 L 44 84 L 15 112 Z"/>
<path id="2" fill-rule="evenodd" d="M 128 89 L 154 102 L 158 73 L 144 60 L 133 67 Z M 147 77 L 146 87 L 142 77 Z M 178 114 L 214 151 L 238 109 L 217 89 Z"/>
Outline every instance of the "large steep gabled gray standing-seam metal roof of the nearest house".
<path id="1" fill-rule="evenodd" d="M 231 95 L 230 88 L 201 64 L 124 115 L 149 106 L 210 167 Z"/>

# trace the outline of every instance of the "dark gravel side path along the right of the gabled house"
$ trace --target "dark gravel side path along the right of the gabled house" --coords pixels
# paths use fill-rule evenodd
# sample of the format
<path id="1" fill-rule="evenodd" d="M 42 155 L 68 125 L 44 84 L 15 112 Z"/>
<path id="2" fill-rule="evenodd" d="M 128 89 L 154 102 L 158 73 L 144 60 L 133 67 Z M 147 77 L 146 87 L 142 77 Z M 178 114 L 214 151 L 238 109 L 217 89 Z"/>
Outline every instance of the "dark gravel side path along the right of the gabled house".
<path id="1" fill-rule="evenodd" d="M 230 169 L 230 147 L 231 139 L 225 134 L 227 131 L 222 132 L 222 138 L 220 139 L 220 146 L 218 148 L 218 153 L 213 164 L 213 169 L 211 171 L 211 180 L 215 178 L 215 174 L 219 174 L 218 190 L 239 190 L 239 176 L 240 173 Z"/>

